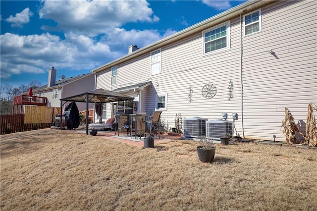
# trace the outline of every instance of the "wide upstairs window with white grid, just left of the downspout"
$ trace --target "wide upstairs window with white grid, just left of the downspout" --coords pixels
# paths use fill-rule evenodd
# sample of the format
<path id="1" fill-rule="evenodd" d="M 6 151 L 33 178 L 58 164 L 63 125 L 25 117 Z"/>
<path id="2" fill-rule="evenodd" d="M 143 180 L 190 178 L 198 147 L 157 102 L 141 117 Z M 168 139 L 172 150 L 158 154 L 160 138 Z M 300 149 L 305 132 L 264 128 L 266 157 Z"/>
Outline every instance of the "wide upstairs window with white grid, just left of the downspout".
<path id="1" fill-rule="evenodd" d="M 203 54 L 230 48 L 230 22 L 203 31 Z"/>

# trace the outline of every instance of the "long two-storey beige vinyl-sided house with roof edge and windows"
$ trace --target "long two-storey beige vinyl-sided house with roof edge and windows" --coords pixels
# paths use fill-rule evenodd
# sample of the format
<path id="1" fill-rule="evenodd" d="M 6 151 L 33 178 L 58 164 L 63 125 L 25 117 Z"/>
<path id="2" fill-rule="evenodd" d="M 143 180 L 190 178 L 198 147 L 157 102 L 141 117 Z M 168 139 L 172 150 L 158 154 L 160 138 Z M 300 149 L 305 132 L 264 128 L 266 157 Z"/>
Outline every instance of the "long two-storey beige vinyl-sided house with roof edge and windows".
<path id="1" fill-rule="evenodd" d="M 307 106 L 317 103 L 317 1 L 247 1 L 92 72 L 96 88 L 134 96 L 106 105 L 115 112 L 163 110 L 221 119 L 232 113 L 241 137 L 285 141 L 285 107 L 305 133 Z M 136 111 L 134 111 L 136 108 Z"/>

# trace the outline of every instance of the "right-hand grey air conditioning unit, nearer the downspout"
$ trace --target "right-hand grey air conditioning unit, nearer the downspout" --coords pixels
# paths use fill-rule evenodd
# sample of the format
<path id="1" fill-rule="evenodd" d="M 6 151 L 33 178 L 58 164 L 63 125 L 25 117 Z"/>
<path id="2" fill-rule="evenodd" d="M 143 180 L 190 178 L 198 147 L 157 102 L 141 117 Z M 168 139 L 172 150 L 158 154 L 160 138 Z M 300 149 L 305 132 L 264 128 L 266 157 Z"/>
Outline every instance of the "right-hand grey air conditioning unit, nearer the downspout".
<path id="1" fill-rule="evenodd" d="M 220 140 L 220 136 L 224 133 L 228 133 L 229 137 L 232 138 L 232 122 L 223 120 L 223 119 L 215 119 L 206 122 L 206 137 L 212 138 L 214 140 Z"/>

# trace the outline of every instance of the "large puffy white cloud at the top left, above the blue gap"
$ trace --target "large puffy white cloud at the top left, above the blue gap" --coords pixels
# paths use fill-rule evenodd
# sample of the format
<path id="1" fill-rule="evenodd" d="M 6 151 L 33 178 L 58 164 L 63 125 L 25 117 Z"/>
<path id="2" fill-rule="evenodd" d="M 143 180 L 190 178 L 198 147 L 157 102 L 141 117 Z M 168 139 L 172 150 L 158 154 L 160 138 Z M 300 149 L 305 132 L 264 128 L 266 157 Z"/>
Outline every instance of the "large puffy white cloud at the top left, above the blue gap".
<path id="1" fill-rule="evenodd" d="M 39 15 L 57 22 L 56 27 L 43 26 L 44 30 L 94 37 L 128 22 L 158 22 L 149 5 L 145 0 L 44 1 Z"/>

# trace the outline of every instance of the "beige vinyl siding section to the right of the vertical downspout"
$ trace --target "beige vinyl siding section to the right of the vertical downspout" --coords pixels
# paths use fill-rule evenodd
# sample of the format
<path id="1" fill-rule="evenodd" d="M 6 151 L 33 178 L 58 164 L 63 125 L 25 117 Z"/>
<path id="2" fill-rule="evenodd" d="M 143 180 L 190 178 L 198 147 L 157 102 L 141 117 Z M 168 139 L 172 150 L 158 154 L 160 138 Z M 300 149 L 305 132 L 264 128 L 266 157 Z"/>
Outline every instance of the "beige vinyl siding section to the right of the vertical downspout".
<path id="1" fill-rule="evenodd" d="M 262 32 L 243 38 L 247 138 L 273 140 L 276 135 L 285 141 L 285 107 L 306 133 L 307 106 L 317 102 L 316 10 L 316 1 L 274 2 L 262 8 Z"/>

